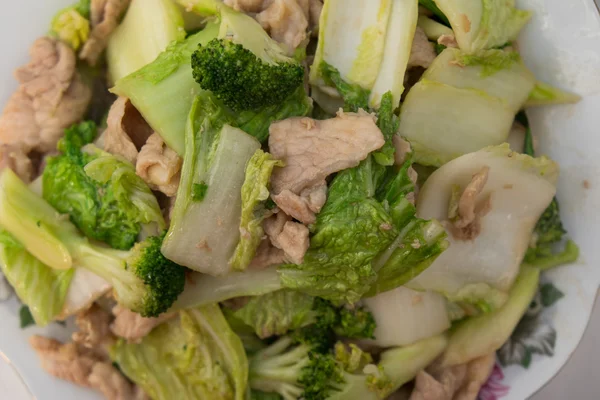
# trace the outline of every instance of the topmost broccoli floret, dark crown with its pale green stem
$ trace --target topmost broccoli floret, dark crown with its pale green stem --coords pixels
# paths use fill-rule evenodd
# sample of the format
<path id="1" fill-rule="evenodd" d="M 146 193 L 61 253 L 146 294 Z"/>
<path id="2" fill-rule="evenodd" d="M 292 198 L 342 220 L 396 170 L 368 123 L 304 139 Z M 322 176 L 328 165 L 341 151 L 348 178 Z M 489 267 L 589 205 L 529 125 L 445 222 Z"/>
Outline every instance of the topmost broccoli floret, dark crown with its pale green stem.
<path id="1" fill-rule="evenodd" d="M 276 105 L 304 83 L 304 67 L 253 18 L 221 8 L 218 38 L 192 55 L 194 79 L 235 111 Z"/>

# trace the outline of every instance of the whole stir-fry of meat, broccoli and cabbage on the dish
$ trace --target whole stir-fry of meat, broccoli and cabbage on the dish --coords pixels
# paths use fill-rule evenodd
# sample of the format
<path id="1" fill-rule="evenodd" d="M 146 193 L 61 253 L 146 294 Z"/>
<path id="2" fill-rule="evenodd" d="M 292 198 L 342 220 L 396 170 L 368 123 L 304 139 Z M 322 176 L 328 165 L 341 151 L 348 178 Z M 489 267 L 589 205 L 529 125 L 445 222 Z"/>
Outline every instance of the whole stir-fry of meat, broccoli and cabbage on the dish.
<path id="1" fill-rule="evenodd" d="M 0 116 L 1 276 L 23 327 L 81 331 L 35 338 L 44 366 L 182 400 L 419 397 L 451 368 L 474 397 L 488 371 L 470 365 L 491 368 L 540 273 L 579 255 L 523 112 L 579 97 L 525 66 L 530 17 L 514 0 L 61 10 Z M 135 123 L 100 122 L 96 87 L 76 112 L 91 75 Z M 133 163 L 107 152 L 130 141 Z"/>

